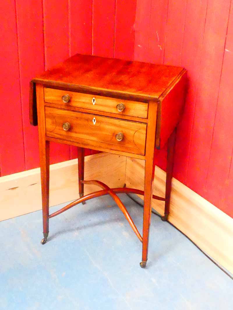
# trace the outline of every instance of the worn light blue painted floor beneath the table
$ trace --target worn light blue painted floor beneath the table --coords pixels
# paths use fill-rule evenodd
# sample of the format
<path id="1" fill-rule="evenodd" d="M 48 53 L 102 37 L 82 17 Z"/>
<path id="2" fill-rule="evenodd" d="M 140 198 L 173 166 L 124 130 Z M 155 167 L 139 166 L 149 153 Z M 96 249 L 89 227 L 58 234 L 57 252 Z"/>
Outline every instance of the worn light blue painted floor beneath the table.
<path id="1" fill-rule="evenodd" d="M 119 196 L 141 232 L 142 208 Z M 155 215 L 147 268 L 140 268 L 142 245 L 108 196 L 50 219 L 43 246 L 41 211 L 0 222 L 0 229 L 0 309 L 233 307 L 231 278 Z"/>

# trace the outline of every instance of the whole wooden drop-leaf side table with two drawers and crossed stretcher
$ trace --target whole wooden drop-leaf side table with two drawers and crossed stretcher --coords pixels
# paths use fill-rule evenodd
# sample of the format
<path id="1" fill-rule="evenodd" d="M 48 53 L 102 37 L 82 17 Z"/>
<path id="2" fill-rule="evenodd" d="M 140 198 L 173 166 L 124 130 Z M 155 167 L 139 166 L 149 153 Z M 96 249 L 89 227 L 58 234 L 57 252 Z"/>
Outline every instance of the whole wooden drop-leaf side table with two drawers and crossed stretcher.
<path id="1" fill-rule="evenodd" d="M 74 55 L 47 70 L 30 83 L 30 123 L 39 129 L 43 236 L 48 222 L 78 203 L 109 194 L 142 242 L 146 266 L 152 197 L 165 201 L 162 220 L 169 214 L 176 125 L 180 120 L 186 85 L 180 67 Z M 49 215 L 49 143 L 78 147 L 80 198 Z M 153 195 L 154 148 L 168 141 L 166 195 Z M 96 180 L 84 180 L 84 148 L 145 160 L 144 192 L 133 188 L 109 188 Z M 84 196 L 84 184 L 101 190 Z M 143 236 L 140 235 L 117 193 L 144 195 Z"/>

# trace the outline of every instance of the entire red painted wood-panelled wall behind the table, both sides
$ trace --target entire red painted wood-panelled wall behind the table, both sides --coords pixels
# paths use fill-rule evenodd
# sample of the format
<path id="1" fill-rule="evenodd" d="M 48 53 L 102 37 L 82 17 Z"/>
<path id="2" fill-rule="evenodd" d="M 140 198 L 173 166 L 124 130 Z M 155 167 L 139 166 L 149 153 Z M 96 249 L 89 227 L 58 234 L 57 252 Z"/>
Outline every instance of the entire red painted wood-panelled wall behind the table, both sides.
<path id="1" fill-rule="evenodd" d="M 28 111 L 36 73 L 78 52 L 181 65 L 189 91 L 175 177 L 233 217 L 233 0 L 9 0 L 0 10 L 1 175 L 39 166 Z M 156 155 L 165 169 L 166 150 Z M 51 163 L 76 156 L 51 148 Z"/>

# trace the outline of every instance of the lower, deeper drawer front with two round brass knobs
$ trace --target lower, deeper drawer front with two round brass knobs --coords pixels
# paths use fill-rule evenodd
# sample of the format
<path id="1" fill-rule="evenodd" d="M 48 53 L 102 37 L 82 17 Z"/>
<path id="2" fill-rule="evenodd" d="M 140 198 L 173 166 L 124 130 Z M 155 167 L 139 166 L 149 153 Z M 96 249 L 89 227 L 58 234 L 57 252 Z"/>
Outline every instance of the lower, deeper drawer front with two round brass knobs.
<path id="1" fill-rule="evenodd" d="M 145 154 L 146 124 L 45 107 L 46 136 L 87 148 Z"/>

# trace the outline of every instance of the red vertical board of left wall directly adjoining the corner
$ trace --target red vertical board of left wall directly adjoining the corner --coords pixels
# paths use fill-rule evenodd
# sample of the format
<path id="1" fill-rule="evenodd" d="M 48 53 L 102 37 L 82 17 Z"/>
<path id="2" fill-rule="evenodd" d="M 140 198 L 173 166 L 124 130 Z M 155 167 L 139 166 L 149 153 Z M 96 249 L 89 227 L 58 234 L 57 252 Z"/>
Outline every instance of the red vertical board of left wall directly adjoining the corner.
<path id="1" fill-rule="evenodd" d="M 134 22 L 136 1 L 116 0 L 114 57 L 134 59 Z"/>

